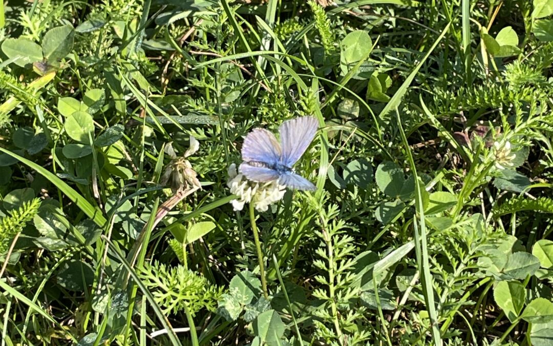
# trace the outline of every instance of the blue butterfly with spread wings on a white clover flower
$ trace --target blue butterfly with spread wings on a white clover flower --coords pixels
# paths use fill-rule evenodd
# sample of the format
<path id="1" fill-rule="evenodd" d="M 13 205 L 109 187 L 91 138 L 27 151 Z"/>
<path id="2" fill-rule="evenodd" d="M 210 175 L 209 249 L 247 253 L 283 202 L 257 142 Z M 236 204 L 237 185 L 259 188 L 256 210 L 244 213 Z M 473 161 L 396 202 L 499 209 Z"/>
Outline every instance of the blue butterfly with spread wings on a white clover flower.
<path id="1" fill-rule="evenodd" d="M 312 116 L 287 120 L 279 127 L 280 143 L 272 132 L 255 128 L 244 140 L 240 172 L 253 182 L 279 179 L 279 184 L 289 188 L 315 190 L 292 166 L 311 144 L 317 128 L 319 121 Z"/>

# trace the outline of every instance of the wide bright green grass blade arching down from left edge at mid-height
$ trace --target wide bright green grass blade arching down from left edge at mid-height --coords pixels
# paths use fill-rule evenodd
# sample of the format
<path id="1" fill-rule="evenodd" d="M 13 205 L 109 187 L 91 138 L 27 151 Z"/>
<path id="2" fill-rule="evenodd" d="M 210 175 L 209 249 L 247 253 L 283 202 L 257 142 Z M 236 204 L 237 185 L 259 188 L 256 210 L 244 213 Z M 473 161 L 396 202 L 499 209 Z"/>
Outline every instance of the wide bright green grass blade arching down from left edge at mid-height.
<path id="1" fill-rule="evenodd" d="M 90 202 L 88 202 L 86 198 L 82 197 L 82 195 L 80 195 L 78 192 L 76 192 L 76 190 L 67 185 L 63 180 L 56 177 L 56 175 L 47 171 L 44 167 L 39 166 L 33 161 L 21 157 L 18 154 L 14 154 L 2 147 L 0 147 L 0 152 L 6 153 L 13 158 L 17 158 L 21 163 L 26 164 L 30 168 L 33 168 L 44 178 L 48 179 L 50 183 L 54 184 L 55 187 L 57 187 L 62 193 L 67 196 L 67 198 L 72 200 L 72 202 L 74 202 L 86 214 L 86 216 L 91 218 L 92 221 L 96 223 L 96 225 L 100 226 L 100 228 L 103 228 L 106 225 L 106 218 L 102 215 L 102 211 L 92 206 L 92 204 L 90 204 Z"/>

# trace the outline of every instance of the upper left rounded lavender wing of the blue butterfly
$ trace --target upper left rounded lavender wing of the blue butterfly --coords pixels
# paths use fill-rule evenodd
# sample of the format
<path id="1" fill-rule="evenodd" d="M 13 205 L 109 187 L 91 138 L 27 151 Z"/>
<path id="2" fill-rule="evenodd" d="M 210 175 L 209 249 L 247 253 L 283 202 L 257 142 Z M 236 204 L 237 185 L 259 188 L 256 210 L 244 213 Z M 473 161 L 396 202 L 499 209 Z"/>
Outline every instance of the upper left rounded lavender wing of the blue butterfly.
<path id="1" fill-rule="evenodd" d="M 280 159 L 280 144 L 272 132 L 254 128 L 242 144 L 242 161 L 264 162 L 274 166 Z"/>

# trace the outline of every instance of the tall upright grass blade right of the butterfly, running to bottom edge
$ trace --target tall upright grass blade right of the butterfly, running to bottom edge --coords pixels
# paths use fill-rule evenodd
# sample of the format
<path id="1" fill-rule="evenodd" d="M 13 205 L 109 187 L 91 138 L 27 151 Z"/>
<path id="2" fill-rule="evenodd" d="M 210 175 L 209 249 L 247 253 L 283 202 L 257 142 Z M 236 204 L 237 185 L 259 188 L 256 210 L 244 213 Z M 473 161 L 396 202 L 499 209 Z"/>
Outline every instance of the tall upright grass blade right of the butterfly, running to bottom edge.
<path id="1" fill-rule="evenodd" d="M 426 224 L 424 219 L 424 207 L 422 205 L 422 190 L 419 180 L 419 175 L 416 173 L 415 161 L 413 159 L 413 153 L 405 137 L 403 126 L 401 126 L 401 117 L 399 111 L 396 109 L 396 115 L 398 120 L 399 132 L 401 135 L 401 141 L 405 147 L 407 154 L 409 167 L 415 178 L 415 209 L 419 216 L 420 233 L 417 221 L 414 220 L 413 225 L 415 229 L 415 252 L 416 260 L 419 266 L 419 271 L 422 273 L 422 294 L 424 295 L 424 301 L 426 303 L 426 309 L 428 311 L 431 323 L 432 340 L 435 346 L 441 346 L 440 328 L 438 328 L 436 305 L 434 303 L 434 290 L 432 289 L 432 277 L 430 275 L 430 262 L 428 259 L 428 244 L 426 242 Z M 415 216 L 416 218 L 416 216 Z"/>

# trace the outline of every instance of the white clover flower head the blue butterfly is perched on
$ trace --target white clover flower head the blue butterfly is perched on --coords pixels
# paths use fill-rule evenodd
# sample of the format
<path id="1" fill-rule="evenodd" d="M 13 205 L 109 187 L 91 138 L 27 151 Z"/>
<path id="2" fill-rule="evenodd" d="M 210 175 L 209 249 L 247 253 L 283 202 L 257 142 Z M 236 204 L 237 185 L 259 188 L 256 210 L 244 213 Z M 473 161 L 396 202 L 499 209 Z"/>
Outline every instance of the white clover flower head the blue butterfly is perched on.
<path id="1" fill-rule="evenodd" d="M 234 210 L 242 210 L 244 204 L 253 203 L 257 211 L 267 211 L 269 205 L 281 200 L 286 193 L 286 187 L 280 185 L 278 180 L 266 183 L 248 180 L 242 173 L 237 172 L 234 163 L 228 167 L 227 186 L 232 194 L 238 196 L 231 201 Z"/>

